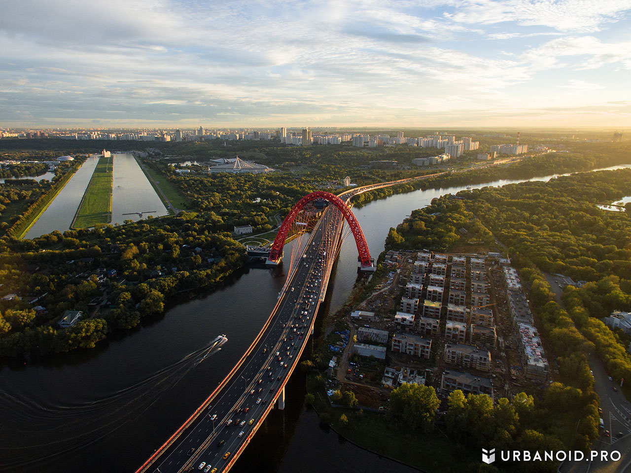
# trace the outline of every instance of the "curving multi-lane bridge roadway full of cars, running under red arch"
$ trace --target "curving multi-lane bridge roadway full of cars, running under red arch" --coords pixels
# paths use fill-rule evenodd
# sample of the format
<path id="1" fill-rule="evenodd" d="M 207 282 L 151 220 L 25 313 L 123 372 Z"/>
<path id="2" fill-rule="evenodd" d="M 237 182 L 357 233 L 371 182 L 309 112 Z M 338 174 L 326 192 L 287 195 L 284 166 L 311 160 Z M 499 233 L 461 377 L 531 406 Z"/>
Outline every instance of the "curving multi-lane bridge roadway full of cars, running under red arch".
<path id="1" fill-rule="evenodd" d="M 339 197 L 349 203 L 360 193 L 427 177 L 371 184 Z M 341 212 L 327 207 L 311 233 L 306 258 L 299 256 L 276 307 L 237 366 L 136 473 L 223 473 L 230 469 L 276 400 L 281 397 L 284 402 L 285 385 L 326 294 L 343 224 Z"/>

